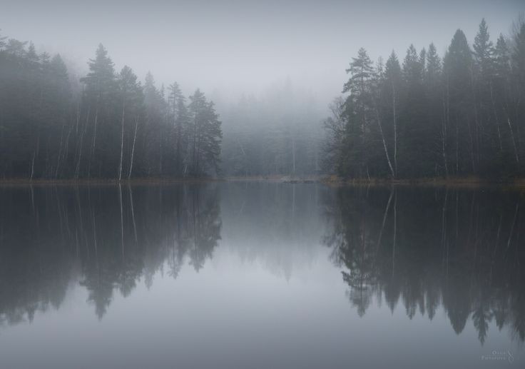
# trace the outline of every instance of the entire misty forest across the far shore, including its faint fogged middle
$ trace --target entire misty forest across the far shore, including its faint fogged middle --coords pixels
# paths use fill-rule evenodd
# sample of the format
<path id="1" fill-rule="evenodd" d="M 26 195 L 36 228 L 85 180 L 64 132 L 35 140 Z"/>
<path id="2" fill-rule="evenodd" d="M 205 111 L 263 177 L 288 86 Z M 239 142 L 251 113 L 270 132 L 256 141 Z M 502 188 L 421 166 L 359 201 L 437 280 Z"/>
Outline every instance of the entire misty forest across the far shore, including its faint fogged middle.
<path id="1" fill-rule="evenodd" d="M 0 36 L 0 178 L 523 177 L 523 19 L 496 39 L 483 19 L 472 46 L 458 29 L 443 56 L 431 43 L 401 59 L 360 49 L 323 119 L 290 83 L 215 106 L 116 71 L 102 44 L 79 77 Z"/>

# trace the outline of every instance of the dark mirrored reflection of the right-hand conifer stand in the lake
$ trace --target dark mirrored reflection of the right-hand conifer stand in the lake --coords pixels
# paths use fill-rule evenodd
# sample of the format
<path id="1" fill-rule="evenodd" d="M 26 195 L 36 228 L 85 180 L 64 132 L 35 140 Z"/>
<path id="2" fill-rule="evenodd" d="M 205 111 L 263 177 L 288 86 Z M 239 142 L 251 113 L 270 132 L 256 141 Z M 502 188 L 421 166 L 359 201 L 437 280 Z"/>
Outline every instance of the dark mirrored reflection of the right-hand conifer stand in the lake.
<path id="1" fill-rule="evenodd" d="M 327 199 L 324 242 L 364 315 L 374 296 L 407 316 L 447 312 L 461 333 L 472 318 L 525 340 L 523 198 L 491 189 L 341 188 Z"/>

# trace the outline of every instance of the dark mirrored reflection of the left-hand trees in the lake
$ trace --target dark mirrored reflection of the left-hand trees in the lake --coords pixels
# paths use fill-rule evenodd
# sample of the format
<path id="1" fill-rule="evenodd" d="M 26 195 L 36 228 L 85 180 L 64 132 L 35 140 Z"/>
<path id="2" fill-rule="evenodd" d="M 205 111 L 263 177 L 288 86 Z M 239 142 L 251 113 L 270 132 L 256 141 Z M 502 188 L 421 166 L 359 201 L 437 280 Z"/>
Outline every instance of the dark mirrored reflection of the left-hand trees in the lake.
<path id="1" fill-rule="evenodd" d="M 196 271 L 220 239 L 215 186 L 35 186 L 0 189 L 0 324 L 58 308 L 80 280 L 102 318 L 119 290 Z"/>

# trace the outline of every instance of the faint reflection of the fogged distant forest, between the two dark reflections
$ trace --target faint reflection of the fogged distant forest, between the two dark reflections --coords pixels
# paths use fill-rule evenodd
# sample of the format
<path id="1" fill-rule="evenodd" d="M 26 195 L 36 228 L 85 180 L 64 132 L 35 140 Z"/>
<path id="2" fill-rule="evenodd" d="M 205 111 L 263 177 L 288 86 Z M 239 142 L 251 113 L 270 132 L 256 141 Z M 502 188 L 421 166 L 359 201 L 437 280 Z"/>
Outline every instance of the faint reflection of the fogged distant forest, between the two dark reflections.
<path id="1" fill-rule="evenodd" d="M 278 183 L 224 186 L 220 248 L 237 253 L 248 268 L 258 264 L 284 278 L 303 270 L 306 277 L 320 252 L 325 254 L 318 247 L 326 232 L 320 211 L 322 189 L 322 185 L 312 191 L 312 185 Z M 216 256 L 220 253 L 216 250 Z"/>

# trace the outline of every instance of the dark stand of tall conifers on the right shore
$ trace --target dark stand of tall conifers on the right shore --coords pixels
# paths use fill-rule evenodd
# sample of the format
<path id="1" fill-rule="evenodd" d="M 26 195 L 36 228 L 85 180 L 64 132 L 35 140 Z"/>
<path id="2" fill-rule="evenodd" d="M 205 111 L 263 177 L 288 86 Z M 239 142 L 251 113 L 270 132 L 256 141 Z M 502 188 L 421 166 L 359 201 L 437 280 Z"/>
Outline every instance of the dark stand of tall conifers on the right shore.
<path id="1" fill-rule="evenodd" d="M 411 45 L 373 63 L 352 58 L 332 104 L 325 168 L 345 178 L 515 178 L 525 173 L 525 21 L 472 47 L 458 29 L 440 57 Z"/>

